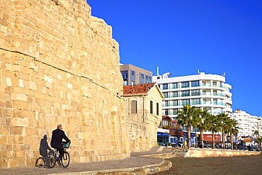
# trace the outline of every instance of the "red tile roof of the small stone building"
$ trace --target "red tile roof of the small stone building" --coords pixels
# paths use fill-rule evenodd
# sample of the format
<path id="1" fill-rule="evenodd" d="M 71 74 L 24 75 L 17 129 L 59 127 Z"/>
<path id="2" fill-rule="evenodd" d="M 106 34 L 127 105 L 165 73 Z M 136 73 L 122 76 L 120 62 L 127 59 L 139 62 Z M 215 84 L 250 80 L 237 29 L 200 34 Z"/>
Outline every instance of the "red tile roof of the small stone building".
<path id="1" fill-rule="evenodd" d="M 123 86 L 124 94 L 146 94 L 155 83 Z"/>

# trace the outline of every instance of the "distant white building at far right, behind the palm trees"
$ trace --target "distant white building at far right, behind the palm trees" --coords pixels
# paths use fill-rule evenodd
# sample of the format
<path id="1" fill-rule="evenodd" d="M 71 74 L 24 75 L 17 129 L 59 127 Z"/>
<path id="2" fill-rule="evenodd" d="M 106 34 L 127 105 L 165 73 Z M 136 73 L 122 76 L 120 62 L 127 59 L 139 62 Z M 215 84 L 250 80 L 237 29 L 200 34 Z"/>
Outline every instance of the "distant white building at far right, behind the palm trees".
<path id="1" fill-rule="evenodd" d="M 243 140 L 244 137 L 256 137 L 254 132 L 258 130 L 259 135 L 262 135 L 262 120 L 261 117 L 250 115 L 246 111 L 238 109 L 231 115 L 234 120 L 239 123 L 239 132 L 237 133 L 238 140 Z"/>

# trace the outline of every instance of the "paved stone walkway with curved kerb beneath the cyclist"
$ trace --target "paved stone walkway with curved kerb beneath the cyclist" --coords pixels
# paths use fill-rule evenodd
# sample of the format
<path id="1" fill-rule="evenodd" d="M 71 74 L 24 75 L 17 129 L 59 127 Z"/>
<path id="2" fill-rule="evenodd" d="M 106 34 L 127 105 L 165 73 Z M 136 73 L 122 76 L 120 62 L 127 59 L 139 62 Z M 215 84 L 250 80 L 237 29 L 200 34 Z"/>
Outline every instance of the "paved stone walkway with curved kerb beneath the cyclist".
<path id="1" fill-rule="evenodd" d="M 120 160 L 103 162 L 72 163 L 69 167 L 55 166 L 53 169 L 45 167 L 18 167 L 0 169 L 0 174 L 153 174 L 159 171 L 169 170 L 171 162 L 156 157 L 143 157 L 159 154 L 171 154 L 171 151 L 162 152 L 135 152 L 131 157 Z"/>

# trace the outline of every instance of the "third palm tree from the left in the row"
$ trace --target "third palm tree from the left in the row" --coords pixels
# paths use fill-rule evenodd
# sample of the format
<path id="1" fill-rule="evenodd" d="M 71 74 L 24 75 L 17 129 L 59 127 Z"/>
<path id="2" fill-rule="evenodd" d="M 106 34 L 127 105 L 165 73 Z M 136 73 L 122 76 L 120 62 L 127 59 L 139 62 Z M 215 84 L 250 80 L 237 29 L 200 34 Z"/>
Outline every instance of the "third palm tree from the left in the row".
<path id="1" fill-rule="evenodd" d="M 212 149 L 215 149 L 215 132 L 220 130 L 220 120 L 218 115 L 212 115 L 207 118 L 207 128 L 212 131 Z"/>

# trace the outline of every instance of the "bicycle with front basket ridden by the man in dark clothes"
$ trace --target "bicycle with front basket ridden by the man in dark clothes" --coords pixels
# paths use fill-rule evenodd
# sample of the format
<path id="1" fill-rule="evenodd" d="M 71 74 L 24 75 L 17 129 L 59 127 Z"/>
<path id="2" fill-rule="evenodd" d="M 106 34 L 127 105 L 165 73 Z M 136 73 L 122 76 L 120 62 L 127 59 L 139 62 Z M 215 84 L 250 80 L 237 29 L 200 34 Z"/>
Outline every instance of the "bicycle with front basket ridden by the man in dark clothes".
<path id="1" fill-rule="evenodd" d="M 61 160 L 61 164 L 58 161 L 58 157 L 59 157 L 59 152 L 57 152 L 57 149 L 55 150 L 51 150 L 50 152 L 47 153 L 47 158 L 46 158 L 46 165 L 47 168 L 54 168 L 54 166 L 56 164 L 58 164 L 59 166 L 63 166 L 64 168 L 67 168 L 67 166 L 69 166 L 70 163 L 70 156 L 69 153 L 67 152 L 67 148 L 69 148 L 70 142 L 63 142 L 63 146 L 64 146 L 64 156 L 62 157 Z"/>

